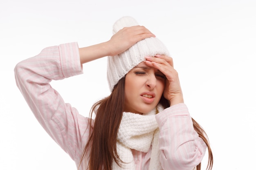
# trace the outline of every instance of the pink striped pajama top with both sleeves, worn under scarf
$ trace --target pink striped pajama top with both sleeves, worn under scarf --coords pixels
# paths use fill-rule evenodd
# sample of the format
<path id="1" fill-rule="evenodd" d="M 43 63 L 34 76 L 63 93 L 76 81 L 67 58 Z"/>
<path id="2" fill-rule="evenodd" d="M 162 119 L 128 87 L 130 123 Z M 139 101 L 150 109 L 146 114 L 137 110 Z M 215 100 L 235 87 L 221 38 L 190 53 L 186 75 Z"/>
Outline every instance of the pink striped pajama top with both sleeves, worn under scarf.
<path id="1" fill-rule="evenodd" d="M 49 82 L 83 73 L 76 42 L 45 48 L 15 67 L 16 84 L 36 119 L 47 133 L 79 165 L 89 134 L 89 118 L 66 104 Z M 156 115 L 159 126 L 160 162 L 163 170 L 191 170 L 198 165 L 206 144 L 193 129 L 185 104 Z M 136 170 L 148 170 L 151 150 L 132 150 Z M 82 167 L 80 168 L 82 170 Z"/>

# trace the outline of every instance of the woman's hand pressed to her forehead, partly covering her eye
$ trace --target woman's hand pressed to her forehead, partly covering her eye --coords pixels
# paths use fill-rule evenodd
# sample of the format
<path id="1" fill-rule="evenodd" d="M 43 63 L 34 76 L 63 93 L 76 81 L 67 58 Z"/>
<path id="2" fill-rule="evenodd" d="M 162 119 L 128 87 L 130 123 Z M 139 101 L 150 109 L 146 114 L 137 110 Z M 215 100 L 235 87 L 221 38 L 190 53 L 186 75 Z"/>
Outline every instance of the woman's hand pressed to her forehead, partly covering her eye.
<path id="1" fill-rule="evenodd" d="M 173 59 L 166 55 L 156 55 L 155 57 L 146 57 L 145 63 L 157 68 L 166 76 L 164 98 L 170 101 L 170 106 L 184 103 L 179 76 L 173 68 Z"/>

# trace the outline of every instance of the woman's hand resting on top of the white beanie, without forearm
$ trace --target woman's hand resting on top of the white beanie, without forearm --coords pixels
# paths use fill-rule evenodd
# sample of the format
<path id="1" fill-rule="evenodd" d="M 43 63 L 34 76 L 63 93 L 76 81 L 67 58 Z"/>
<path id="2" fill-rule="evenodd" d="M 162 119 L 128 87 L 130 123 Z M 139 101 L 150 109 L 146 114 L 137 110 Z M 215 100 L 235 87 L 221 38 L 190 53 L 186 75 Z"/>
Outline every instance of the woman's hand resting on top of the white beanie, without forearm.
<path id="1" fill-rule="evenodd" d="M 144 26 L 124 27 L 115 33 L 107 42 L 110 48 L 110 56 L 120 54 L 129 49 L 133 44 L 145 38 L 155 37 Z"/>

